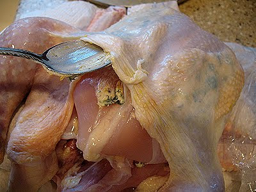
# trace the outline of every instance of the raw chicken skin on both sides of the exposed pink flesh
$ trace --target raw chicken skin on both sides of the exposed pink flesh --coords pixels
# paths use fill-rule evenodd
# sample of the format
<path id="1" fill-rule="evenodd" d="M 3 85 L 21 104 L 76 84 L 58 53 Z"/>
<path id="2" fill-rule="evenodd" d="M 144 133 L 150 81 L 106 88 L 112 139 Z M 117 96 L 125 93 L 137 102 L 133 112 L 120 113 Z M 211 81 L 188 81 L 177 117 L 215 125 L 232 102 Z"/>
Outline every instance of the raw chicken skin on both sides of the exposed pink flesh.
<path id="1" fill-rule="evenodd" d="M 1 36 L 7 41 L 0 45 L 41 53 L 81 38 L 77 32 L 57 20 L 23 19 L 4 31 Z M 19 33 L 24 41 L 14 40 Z M 156 178 L 156 189 L 224 191 L 217 144 L 244 83 L 234 53 L 168 4 L 146 6 L 81 39 L 109 52 L 116 75 L 131 95 L 136 120 L 160 144 L 170 176 Z M 0 157 L 13 111 L 30 92 L 6 149 L 12 159 L 8 188 L 36 191 L 58 171 L 55 147 L 72 115 L 76 83 L 70 86 L 68 79 L 60 81 L 26 60 L 2 59 L 0 102 L 6 108 L 0 107 Z"/>

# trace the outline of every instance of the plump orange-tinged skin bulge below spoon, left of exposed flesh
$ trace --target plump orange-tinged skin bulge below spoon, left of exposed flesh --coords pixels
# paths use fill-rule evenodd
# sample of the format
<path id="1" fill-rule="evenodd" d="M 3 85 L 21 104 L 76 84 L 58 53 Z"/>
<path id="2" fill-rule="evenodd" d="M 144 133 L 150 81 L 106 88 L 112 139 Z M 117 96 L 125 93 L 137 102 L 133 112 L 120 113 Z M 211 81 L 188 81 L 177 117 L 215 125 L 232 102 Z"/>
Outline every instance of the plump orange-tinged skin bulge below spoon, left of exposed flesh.
<path id="1" fill-rule="evenodd" d="M 6 149 L 15 163 L 33 164 L 52 154 L 72 115 L 69 85 L 68 79 L 60 81 L 38 68 Z"/>

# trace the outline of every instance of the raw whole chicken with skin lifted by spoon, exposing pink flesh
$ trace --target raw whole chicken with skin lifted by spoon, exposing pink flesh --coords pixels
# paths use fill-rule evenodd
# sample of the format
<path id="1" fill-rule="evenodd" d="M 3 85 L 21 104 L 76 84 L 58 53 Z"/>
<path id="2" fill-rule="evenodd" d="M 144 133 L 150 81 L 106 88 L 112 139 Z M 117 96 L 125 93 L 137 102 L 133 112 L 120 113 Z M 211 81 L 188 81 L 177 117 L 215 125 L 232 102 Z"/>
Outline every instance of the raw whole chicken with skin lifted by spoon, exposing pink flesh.
<path id="1" fill-rule="evenodd" d="M 81 38 L 112 62 L 70 83 L 1 58 L 1 152 L 29 93 L 8 134 L 8 190 L 53 178 L 58 191 L 224 191 L 217 145 L 244 83 L 234 53 L 168 3 L 95 12 L 87 32 L 31 17 L 1 34 L 1 46 L 38 53 Z"/>

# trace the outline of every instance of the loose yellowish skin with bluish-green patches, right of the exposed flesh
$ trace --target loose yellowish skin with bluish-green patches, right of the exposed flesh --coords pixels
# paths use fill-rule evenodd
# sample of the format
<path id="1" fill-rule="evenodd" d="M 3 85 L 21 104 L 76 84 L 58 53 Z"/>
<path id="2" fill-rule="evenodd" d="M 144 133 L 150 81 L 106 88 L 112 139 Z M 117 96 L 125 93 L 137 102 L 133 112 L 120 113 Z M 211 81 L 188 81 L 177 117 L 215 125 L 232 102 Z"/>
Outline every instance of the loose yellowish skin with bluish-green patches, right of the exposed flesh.
<path id="1" fill-rule="evenodd" d="M 216 147 L 244 82 L 234 53 L 168 7 L 83 40 L 110 52 L 136 118 L 159 141 L 172 173 L 159 191 L 223 191 Z"/>

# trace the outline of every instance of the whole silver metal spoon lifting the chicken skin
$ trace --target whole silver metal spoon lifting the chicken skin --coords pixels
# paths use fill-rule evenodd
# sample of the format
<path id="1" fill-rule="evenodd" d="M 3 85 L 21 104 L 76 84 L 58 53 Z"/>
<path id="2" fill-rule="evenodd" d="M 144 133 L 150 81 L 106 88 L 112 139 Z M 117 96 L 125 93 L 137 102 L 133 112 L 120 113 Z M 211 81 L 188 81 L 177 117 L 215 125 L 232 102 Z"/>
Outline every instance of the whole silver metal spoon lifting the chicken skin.
<path id="1" fill-rule="evenodd" d="M 43 54 L 6 47 L 0 47 L 0 54 L 36 61 L 50 73 L 71 79 L 111 64 L 108 52 L 83 40 L 55 45 Z"/>

